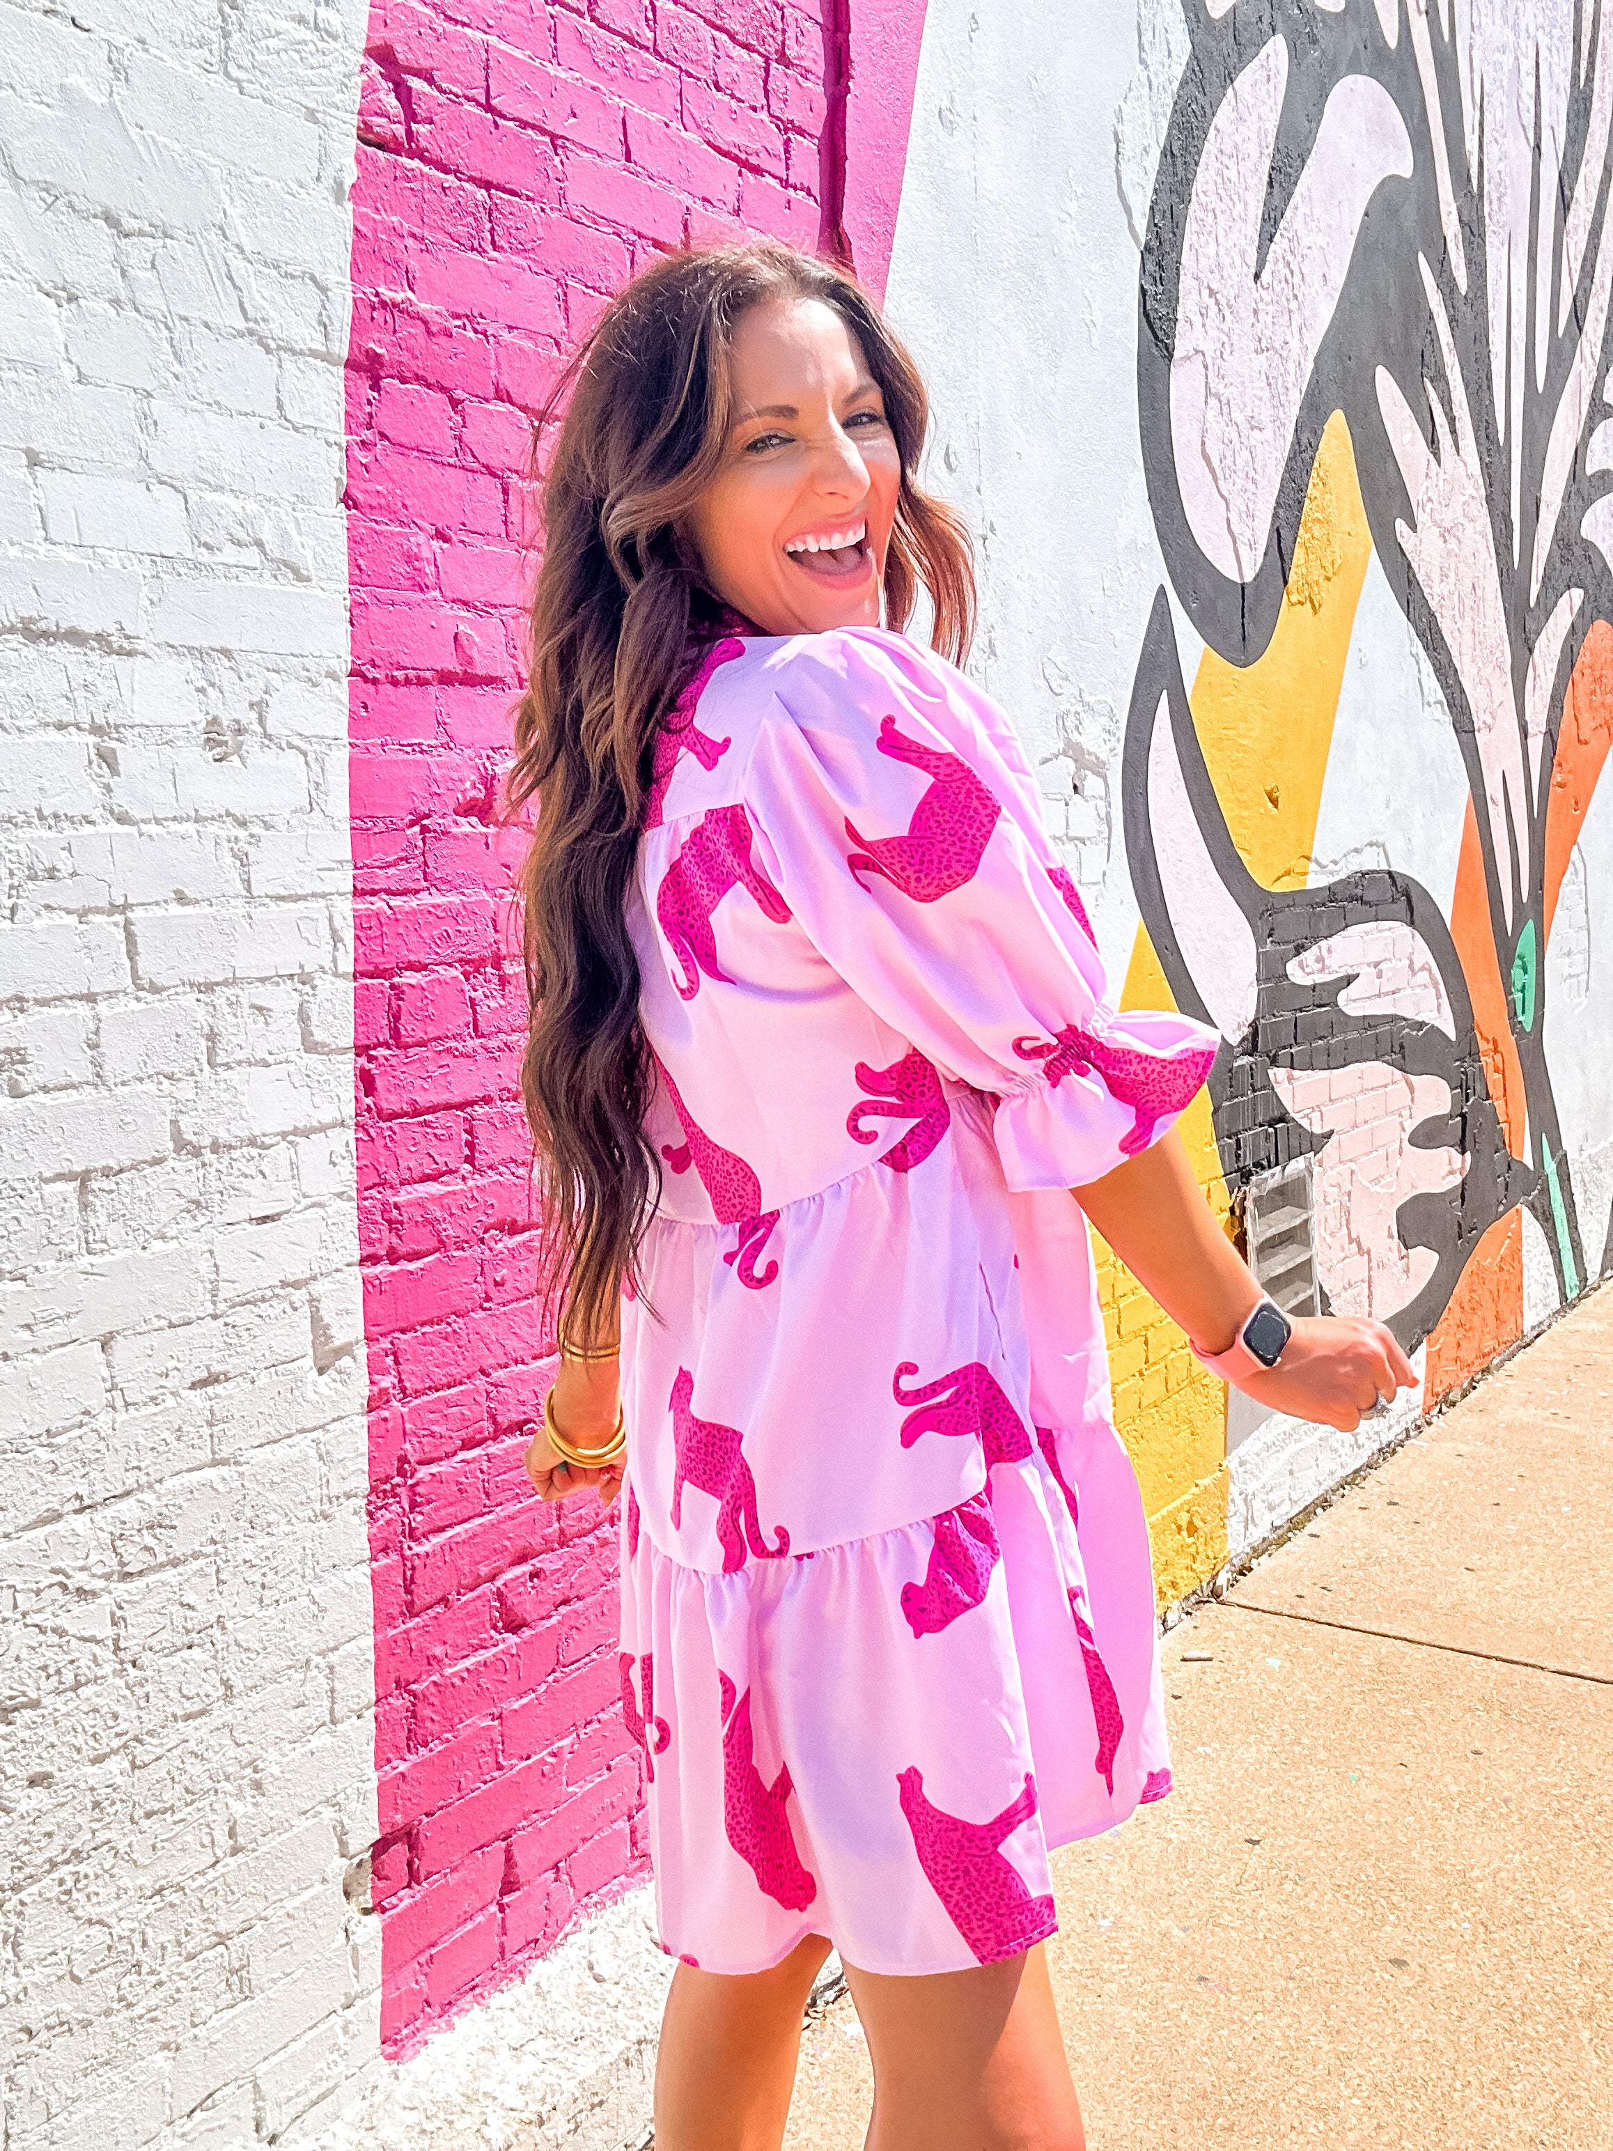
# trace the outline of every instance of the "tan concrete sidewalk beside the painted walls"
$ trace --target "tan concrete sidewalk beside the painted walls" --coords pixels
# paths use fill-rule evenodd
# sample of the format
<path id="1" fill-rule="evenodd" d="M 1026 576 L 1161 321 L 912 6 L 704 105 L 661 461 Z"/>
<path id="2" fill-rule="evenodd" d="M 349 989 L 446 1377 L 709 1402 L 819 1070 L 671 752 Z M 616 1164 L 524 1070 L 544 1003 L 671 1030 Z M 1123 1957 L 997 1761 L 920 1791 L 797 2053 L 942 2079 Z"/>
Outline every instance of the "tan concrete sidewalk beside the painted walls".
<path id="1" fill-rule="evenodd" d="M 1176 1792 L 1054 1861 L 1093 2151 L 1613 2147 L 1613 1288 L 1166 1639 Z M 850 2000 L 789 2151 L 856 2151 Z"/>

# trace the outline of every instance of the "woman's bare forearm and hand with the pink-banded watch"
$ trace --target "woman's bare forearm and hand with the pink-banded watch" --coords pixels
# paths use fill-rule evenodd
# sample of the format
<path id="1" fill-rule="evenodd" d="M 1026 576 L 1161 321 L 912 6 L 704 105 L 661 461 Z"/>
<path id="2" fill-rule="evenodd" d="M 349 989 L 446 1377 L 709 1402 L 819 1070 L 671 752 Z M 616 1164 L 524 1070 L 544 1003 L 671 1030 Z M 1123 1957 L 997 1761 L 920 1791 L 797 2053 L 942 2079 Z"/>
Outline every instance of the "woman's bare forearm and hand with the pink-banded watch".
<path id="1" fill-rule="evenodd" d="M 1071 1194 L 1194 1344 L 1209 1353 L 1232 1344 L 1262 1293 L 1217 1228 L 1179 1136 Z M 1271 1411 L 1351 1433 L 1364 1411 L 1415 1383 L 1383 1323 L 1329 1316 L 1295 1321 L 1277 1366 L 1239 1381 L 1239 1390 Z"/>

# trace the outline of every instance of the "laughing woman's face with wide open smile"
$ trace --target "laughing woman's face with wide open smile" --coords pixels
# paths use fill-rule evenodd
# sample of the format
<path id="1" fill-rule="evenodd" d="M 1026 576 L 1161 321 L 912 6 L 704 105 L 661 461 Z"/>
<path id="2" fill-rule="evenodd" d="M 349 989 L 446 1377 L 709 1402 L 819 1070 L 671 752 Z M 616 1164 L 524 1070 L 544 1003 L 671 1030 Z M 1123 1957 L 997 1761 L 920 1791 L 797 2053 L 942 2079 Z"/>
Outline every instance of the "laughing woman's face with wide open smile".
<path id="1" fill-rule="evenodd" d="M 880 626 L 901 456 L 858 342 L 822 299 L 733 331 L 733 428 L 690 529 L 712 589 L 763 635 Z"/>

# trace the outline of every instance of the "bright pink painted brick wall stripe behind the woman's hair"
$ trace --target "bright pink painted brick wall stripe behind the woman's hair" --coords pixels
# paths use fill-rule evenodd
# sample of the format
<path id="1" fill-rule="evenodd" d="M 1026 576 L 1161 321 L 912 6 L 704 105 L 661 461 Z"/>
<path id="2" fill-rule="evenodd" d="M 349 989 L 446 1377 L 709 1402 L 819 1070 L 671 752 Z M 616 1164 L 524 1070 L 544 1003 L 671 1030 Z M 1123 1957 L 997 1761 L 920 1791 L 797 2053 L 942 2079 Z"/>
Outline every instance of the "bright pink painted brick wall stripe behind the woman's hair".
<path id="1" fill-rule="evenodd" d="M 346 505 L 389 2052 L 643 1874 L 615 1527 L 520 1471 L 551 1379 L 497 809 L 529 419 L 656 250 L 817 241 L 824 54 L 776 0 L 370 13 Z"/>

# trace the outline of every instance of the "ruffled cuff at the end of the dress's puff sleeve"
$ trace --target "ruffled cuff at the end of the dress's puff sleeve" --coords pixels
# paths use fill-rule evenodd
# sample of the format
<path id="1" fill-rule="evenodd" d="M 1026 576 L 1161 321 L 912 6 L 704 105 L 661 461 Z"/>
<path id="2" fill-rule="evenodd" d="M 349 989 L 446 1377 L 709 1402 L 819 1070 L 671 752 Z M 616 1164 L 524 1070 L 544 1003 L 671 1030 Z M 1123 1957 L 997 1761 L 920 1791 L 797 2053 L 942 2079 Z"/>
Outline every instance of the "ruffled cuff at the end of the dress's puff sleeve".
<path id="1" fill-rule="evenodd" d="M 1002 1099 L 994 1138 L 1015 1194 L 1084 1187 L 1176 1125 L 1204 1086 L 1219 1032 L 1164 1009 L 1127 1009 L 1058 1037 L 1015 1039 L 1041 1080 Z"/>

